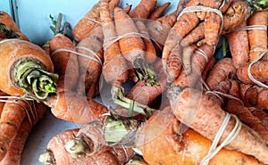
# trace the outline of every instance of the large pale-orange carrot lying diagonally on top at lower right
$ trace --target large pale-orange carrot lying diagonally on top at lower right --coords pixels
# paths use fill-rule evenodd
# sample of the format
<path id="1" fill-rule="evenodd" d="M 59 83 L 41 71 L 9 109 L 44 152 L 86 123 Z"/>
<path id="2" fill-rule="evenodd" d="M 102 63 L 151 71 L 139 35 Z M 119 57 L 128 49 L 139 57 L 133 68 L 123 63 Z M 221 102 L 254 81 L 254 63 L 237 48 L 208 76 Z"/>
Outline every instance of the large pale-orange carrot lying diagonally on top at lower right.
<path id="1" fill-rule="evenodd" d="M 222 121 L 226 119 L 227 113 L 217 103 L 209 100 L 207 95 L 202 94 L 197 89 L 186 87 L 180 92 L 178 90 L 180 90 L 178 87 L 174 87 L 174 90 L 170 91 L 172 111 L 176 118 L 189 128 L 193 128 L 202 136 L 213 141 L 218 134 L 217 132 L 222 125 Z M 179 94 L 176 95 L 173 93 L 174 91 L 177 91 Z M 239 120 L 237 122 L 240 123 Z M 222 136 L 219 137 L 220 144 L 230 135 L 236 120 L 230 118 L 226 123 L 226 128 L 224 128 Z M 264 140 L 256 135 L 255 131 L 251 128 L 247 128 L 243 124 L 240 126 L 236 136 L 233 136 L 230 143 L 223 146 L 226 149 L 255 156 L 257 160 L 267 163 L 268 160 L 265 155 L 268 153 L 268 146 L 264 143 Z"/>

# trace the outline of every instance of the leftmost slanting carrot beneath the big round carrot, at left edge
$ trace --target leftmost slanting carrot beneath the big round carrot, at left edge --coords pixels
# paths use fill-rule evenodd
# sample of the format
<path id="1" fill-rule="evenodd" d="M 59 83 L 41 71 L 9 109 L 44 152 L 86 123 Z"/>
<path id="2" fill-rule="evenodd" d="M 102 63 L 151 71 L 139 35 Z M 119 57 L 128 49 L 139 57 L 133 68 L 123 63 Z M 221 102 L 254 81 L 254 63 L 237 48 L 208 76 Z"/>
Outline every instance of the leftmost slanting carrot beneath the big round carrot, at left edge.
<path id="1" fill-rule="evenodd" d="M 14 101 L 16 103 L 4 103 L 4 108 L 0 119 L 0 161 L 4 159 L 8 148 L 11 146 L 14 137 L 17 135 L 21 127 L 21 122 L 24 118 L 27 118 L 27 111 L 29 116 L 33 115 L 33 109 L 30 111 L 32 103 L 31 101 L 23 101 L 14 99 L 8 99 L 9 101 Z"/>

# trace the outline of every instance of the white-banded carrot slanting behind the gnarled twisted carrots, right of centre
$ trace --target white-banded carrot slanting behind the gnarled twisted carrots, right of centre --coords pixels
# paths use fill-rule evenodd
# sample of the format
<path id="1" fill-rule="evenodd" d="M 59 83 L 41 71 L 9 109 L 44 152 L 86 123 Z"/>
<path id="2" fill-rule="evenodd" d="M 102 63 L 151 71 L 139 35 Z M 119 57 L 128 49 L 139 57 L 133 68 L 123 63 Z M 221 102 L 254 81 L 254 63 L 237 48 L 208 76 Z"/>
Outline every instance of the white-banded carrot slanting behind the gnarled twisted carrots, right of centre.
<path id="1" fill-rule="evenodd" d="M 213 46 L 201 45 L 198 47 L 192 56 L 191 66 L 194 66 L 192 71 L 188 74 L 187 70 L 182 69 L 180 76 L 172 82 L 172 86 L 196 87 L 203 70 L 205 70 L 206 63 L 209 62 L 213 54 Z"/>

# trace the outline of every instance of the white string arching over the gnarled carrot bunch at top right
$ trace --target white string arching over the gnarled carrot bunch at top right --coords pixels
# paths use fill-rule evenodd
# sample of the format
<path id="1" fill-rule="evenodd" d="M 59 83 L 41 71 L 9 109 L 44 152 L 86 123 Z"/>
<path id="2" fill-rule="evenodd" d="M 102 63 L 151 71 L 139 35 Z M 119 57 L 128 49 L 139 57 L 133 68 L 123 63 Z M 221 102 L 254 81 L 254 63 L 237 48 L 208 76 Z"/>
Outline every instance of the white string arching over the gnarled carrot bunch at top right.
<path id="1" fill-rule="evenodd" d="M 222 12 L 218 9 L 214 9 L 214 8 L 211 8 L 211 7 L 205 7 L 205 6 L 202 6 L 202 5 L 195 5 L 195 6 L 188 6 L 186 8 L 184 8 L 180 14 L 178 15 L 177 17 L 177 20 L 180 19 L 181 15 L 183 13 L 186 13 L 186 12 L 215 12 L 216 14 L 218 14 L 220 17 L 221 17 L 221 29 L 219 31 L 219 33 L 222 32 L 222 29 L 223 29 L 223 16 L 222 16 Z"/>

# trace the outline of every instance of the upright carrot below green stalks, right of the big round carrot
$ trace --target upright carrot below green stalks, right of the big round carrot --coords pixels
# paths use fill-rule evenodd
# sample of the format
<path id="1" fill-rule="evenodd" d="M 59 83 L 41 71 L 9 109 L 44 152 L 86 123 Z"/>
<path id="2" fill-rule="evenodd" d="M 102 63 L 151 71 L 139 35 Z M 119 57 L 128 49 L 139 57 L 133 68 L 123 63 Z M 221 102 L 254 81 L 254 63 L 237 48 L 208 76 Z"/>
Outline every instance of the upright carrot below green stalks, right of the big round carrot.
<path id="1" fill-rule="evenodd" d="M 71 39 L 63 34 L 57 34 L 49 40 L 49 49 L 54 72 L 59 75 L 57 92 L 74 90 L 79 78 L 79 62 Z"/>

